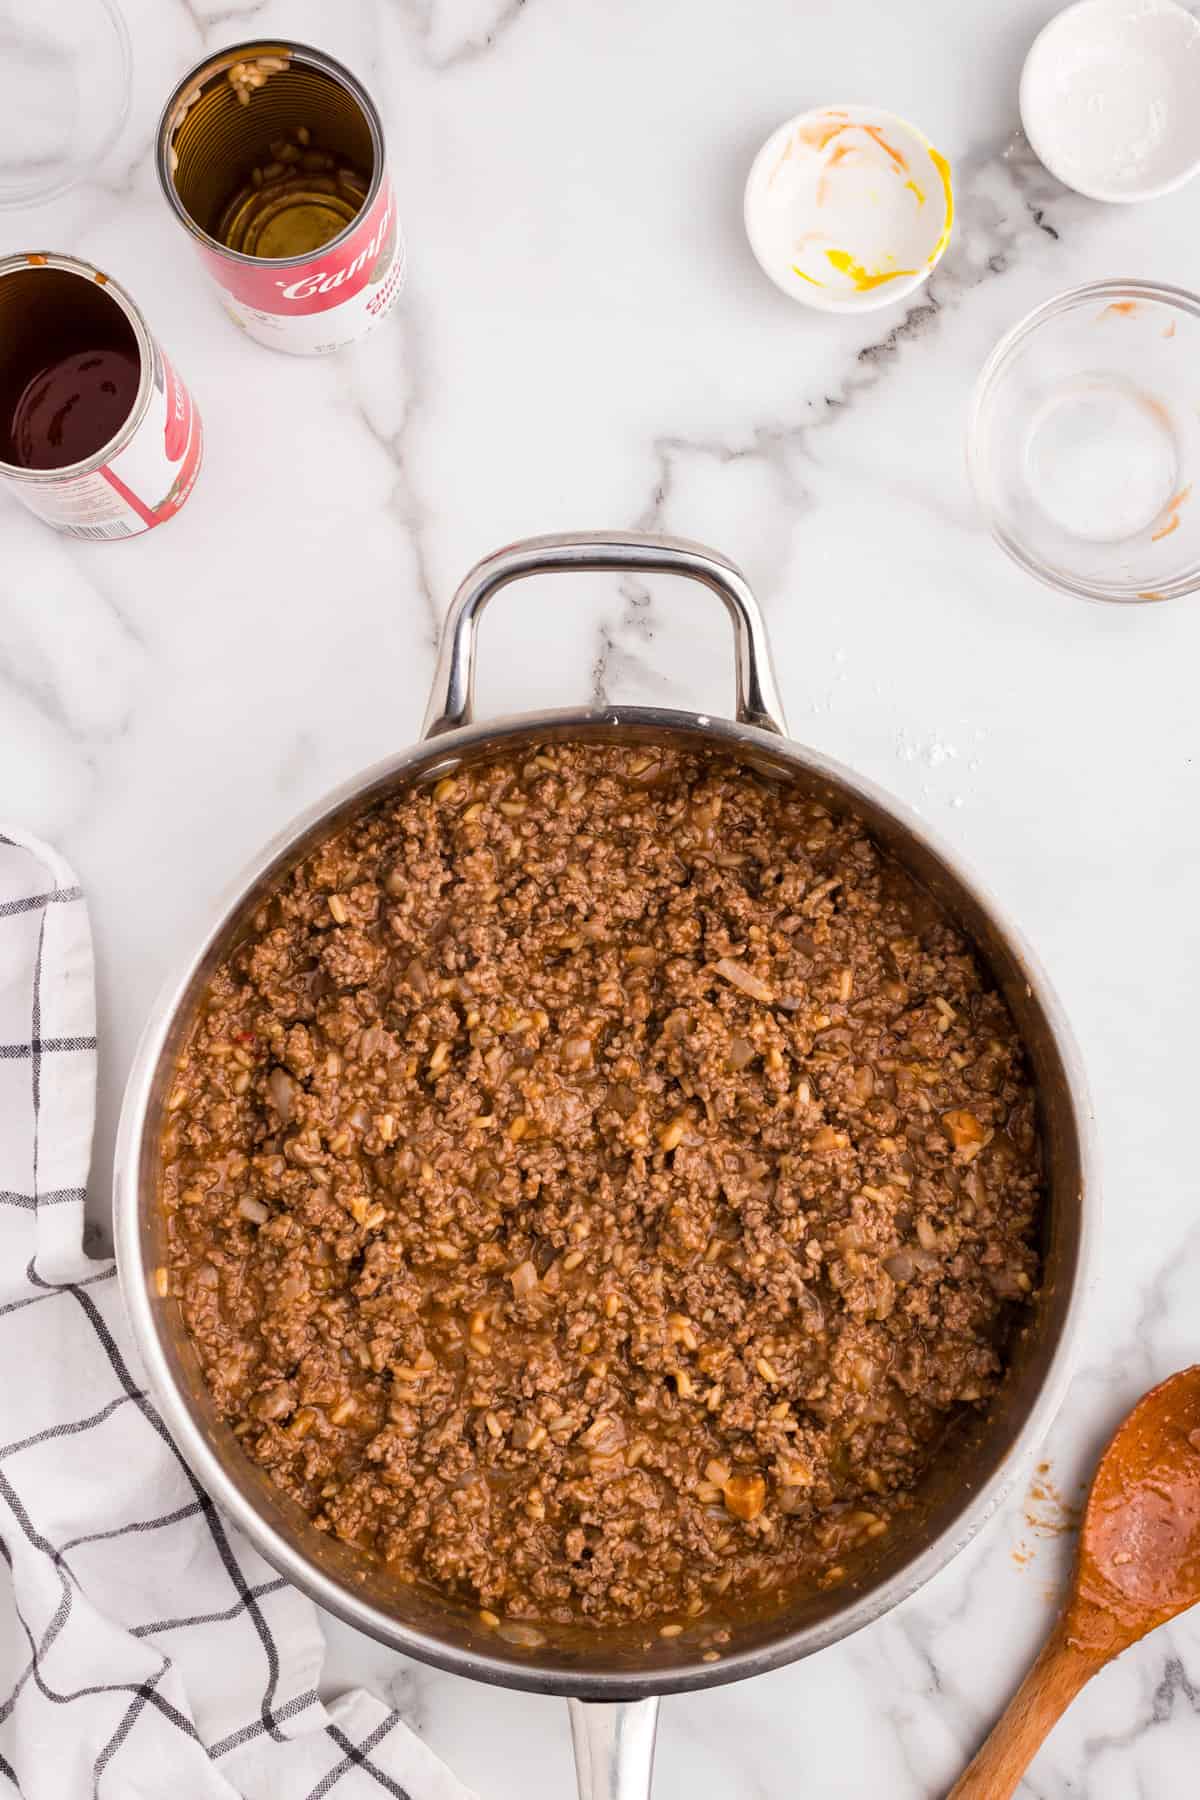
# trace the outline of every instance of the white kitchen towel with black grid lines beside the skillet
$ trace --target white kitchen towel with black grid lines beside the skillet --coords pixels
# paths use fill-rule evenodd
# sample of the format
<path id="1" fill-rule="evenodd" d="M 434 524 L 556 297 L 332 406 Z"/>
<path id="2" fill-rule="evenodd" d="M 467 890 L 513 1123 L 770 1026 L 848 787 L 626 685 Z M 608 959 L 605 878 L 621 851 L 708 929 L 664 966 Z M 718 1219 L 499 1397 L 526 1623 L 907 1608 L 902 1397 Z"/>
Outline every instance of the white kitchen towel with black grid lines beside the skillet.
<path id="1" fill-rule="evenodd" d="M 83 1251 L 92 936 L 0 832 L 0 1800 L 470 1800 L 212 1507 Z"/>

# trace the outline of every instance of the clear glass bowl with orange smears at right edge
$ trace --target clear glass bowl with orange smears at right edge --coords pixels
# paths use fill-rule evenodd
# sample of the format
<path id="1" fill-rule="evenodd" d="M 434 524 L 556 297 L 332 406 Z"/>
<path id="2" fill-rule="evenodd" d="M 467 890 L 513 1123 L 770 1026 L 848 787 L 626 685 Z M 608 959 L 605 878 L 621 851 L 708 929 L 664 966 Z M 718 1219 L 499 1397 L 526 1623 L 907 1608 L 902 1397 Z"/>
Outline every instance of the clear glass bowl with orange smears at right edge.
<path id="1" fill-rule="evenodd" d="M 997 544 L 1040 581 L 1124 603 L 1195 592 L 1200 299 L 1097 281 L 1038 306 L 982 367 L 966 461 Z"/>

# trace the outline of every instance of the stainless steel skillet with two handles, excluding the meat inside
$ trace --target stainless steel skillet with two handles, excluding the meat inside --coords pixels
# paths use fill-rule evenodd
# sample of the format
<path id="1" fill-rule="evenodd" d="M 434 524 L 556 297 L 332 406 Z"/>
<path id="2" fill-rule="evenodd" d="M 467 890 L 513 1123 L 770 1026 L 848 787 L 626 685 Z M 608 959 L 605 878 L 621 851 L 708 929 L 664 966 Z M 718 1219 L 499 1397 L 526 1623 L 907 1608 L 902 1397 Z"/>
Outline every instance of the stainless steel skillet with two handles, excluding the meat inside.
<path id="1" fill-rule="evenodd" d="M 732 718 L 658 707 L 563 707 L 475 722 L 477 628 L 486 605 L 522 576 L 587 569 L 680 574 L 718 596 L 734 630 Z M 896 1534 L 883 1559 L 851 1568 L 851 1579 L 829 1593 L 777 1602 L 774 1611 L 754 1616 L 730 1615 L 723 1620 L 729 1629 L 723 1654 L 709 1663 L 687 1634 L 646 1643 L 637 1631 L 597 1638 L 547 1627 L 536 1643 L 506 1642 L 482 1629 L 471 1609 L 401 1588 L 385 1571 L 354 1559 L 317 1532 L 243 1456 L 205 1393 L 178 1307 L 162 1300 L 155 1283 L 164 1260 L 158 1138 L 171 1069 L 209 976 L 264 893 L 372 797 L 551 738 L 720 747 L 766 779 L 792 783 L 835 810 L 856 812 L 970 932 L 1016 1019 L 1038 1084 L 1049 1183 L 1045 1282 L 1029 1325 L 1013 1345 L 995 1406 L 948 1445 L 925 1483 L 912 1526 Z M 777 1669 L 858 1631 L 928 1580 L 993 1512 L 1063 1395 L 1096 1197 L 1090 1112 L 1078 1057 L 1016 927 L 896 801 L 819 752 L 788 742 L 763 617 L 730 562 L 696 544 L 613 531 L 531 538 L 479 563 L 446 617 L 421 740 L 309 808 L 246 871 L 146 1024 L 121 1116 L 113 1206 L 124 1300 L 153 1395 L 214 1501 L 281 1573 L 372 1638 L 477 1681 L 567 1696 L 583 1800 L 642 1800 L 649 1793 L 660 1696 Z"/>

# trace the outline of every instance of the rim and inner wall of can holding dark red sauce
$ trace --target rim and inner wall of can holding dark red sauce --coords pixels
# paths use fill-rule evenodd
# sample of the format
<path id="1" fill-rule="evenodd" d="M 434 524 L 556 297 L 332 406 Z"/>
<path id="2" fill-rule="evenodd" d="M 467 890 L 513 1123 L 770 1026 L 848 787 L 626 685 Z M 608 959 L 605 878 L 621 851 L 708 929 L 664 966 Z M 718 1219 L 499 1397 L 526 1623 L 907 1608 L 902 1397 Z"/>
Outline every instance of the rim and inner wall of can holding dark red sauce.
<path id="1" fill-rule="evenodd" d="M 139 364 L 137 398 L 113 436 L 65 468 L 25 468 L 13 455 L 11 419 L 25 385 L 41 369 L 88 349 L 115 349 Z M 16 481 L 61 481 L 99 468 L 146 410 L 153 371 L 149 337 L 133 304 L 90 263 L 56 256 L 0 261 L 0 472 Z"/>

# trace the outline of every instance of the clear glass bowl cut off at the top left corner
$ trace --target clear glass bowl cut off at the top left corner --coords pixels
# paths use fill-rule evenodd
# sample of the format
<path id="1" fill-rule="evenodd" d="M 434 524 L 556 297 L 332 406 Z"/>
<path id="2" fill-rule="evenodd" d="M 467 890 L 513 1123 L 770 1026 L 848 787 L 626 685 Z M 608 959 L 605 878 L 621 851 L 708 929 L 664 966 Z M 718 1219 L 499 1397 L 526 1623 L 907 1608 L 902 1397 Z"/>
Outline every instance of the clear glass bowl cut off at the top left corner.
<path id="1" fill-rule="evenodd" d="M 54 200 L 95 171 L 131 72 L 115 0 L 0 0 L 0 207 Z"/>

